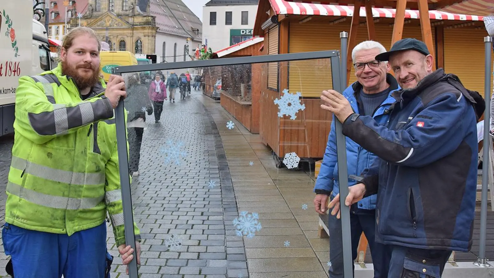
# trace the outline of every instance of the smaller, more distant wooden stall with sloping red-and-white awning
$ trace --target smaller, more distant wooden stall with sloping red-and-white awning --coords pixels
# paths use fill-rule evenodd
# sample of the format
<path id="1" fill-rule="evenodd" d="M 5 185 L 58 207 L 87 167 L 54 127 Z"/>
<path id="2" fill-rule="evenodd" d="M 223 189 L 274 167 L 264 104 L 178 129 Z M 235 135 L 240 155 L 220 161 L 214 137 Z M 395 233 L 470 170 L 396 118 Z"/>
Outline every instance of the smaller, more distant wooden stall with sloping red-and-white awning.
<path id="1" fill-rule="evenodd" d="M 252 38 L 213 53 L 215 58 L 245 57 L 260 54 L 264 38 Z M 220 103 L 252 134 L 259 133 L 260 64 L 225 66 L 221 70 Z"/>

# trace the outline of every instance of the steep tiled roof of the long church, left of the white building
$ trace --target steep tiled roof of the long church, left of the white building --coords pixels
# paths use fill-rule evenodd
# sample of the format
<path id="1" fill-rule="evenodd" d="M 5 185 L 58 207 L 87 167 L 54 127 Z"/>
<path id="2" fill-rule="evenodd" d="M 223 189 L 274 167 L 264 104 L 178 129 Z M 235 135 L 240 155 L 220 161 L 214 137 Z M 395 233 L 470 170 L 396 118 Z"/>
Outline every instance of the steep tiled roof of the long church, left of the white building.
<path id="1" fill-rule="evenodd" d="M 156 16 L 158 33 L 202 41 L 203 23 L 182 0 L 150 1 L 149 13 Z"/>

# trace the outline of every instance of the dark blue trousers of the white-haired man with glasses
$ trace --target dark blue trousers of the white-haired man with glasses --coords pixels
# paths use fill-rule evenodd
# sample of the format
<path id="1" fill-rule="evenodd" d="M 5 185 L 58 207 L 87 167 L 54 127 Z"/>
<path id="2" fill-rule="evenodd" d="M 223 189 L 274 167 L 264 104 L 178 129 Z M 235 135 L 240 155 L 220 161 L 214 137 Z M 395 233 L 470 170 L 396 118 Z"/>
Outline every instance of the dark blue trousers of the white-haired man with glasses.
<path id="1" fill-rule="evenodd" d="M 331 197 L 332 199 L 332 197 Z M 343 243 L 341 237 L 341 219 L 329 213 L 329 278 L 343 278 Z M 374 278 L 387 278 L 391 249 L 389 246 L 375 242 L 375 210 L 350 209 L 350 229 L 352 241 L 352 260 L 357 258 L 360 235 L 366 235 L 371 249 L 374 265 Z M 352 267 L 355 269 L 354 265 Z M 395 277 L 397 278 L 397 277 Z"/>

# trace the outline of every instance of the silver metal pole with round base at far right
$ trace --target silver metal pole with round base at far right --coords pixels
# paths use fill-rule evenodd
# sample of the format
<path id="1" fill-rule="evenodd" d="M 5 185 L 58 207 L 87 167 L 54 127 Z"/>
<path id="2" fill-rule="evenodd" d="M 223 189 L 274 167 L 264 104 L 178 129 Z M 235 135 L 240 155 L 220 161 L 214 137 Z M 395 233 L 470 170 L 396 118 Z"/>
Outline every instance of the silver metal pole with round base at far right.
<path id="1" fill-rule="evenodd" d="M 492 145 L 491 135 L 489 134 L 491 122 L 491 49 L 493 38 L 484 37 L 486 59 L 485 59 L 485 84 L 484 97 L 486 101 L 486 111 L 484 112 L 484 153 L 482 154 L 482 203 L 480 205 L 480 242 L 479 257 L 474 265 L 479 267 L 489 267 L 486 259 L 486 233 L 487 233 L 487 188 L 489 186 L 489 163 L 490 149 Z M 472 224 L 473 225 L 473 224 Z"/>

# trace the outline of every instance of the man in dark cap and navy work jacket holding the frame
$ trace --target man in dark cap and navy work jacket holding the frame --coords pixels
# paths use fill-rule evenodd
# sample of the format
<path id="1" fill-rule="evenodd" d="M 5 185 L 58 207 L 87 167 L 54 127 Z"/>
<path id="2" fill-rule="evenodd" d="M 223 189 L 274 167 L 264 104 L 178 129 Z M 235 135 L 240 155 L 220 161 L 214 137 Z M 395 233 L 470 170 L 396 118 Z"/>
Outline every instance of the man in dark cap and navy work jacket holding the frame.
<path id="1" fill-rule="evenodd" d="M 439 278 L 452 250 L 472 245 L 482 104 L 455 75 L 432 71 L 423 42 L 403 39 L 375 58 L 389 61 L 403 88 L 392 93 L 386 125 L 354 112 L 335 91 L 321 96 L 343 134 L 379 157 L 345 204 L 377 193 L 376 241 L 392 248 L 388 278 Z M 339 195 L 333 206 L 339 217 Z"/>

